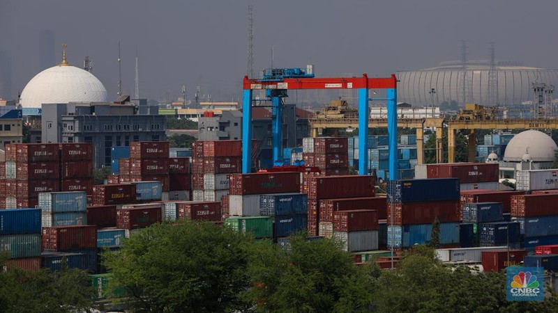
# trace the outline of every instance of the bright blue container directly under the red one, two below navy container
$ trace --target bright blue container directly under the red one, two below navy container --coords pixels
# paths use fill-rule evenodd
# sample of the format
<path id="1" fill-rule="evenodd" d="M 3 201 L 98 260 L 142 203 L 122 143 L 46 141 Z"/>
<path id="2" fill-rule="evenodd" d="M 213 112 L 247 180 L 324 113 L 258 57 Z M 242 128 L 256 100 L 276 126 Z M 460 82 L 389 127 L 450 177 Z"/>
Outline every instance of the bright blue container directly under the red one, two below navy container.
<path id="1" fill-rule="evenodd" d="M 388 226 L 388 247 L 393 244 L 392 227 L 395 233 L 394 248 L 409 248 L 415 244 L 429 243 L 432 239 L 432 224 Z M 459 243 L 459 223 L 440 223 L 440 243 Z"/>

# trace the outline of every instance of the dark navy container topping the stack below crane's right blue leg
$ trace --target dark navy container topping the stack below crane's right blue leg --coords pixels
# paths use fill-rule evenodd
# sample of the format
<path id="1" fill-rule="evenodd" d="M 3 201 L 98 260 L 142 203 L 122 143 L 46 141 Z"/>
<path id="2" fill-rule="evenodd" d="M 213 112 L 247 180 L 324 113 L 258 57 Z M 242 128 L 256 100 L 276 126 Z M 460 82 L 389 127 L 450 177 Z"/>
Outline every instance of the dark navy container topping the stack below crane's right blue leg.
<path id="1" fill-rule="evenodd" d="M 401 203 L 460 200 L 457 178 L 390 180 L 387 192 L 393 202 Z"/>

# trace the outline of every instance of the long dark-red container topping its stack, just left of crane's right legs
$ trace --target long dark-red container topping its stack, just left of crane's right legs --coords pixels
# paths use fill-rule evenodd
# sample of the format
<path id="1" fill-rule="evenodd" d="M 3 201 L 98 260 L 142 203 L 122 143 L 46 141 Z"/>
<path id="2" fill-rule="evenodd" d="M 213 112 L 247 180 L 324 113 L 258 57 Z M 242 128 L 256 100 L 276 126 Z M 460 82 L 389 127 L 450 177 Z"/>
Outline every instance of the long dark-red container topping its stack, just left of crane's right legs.
<path id="1" fill-rule="evenodd" d="M 337 199 L 372 197 L 376 177 L 368 175 L 309 177 L 308 198 Z"/>

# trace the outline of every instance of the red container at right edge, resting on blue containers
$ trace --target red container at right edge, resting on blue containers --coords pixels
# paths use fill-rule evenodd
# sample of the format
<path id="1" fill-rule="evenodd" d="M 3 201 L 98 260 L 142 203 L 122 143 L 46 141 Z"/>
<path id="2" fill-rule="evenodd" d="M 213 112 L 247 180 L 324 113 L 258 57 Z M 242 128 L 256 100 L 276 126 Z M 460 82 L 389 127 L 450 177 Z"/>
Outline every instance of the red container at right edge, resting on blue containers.
<path id="1" fill-rule="evenodd" d="M 558 193 L 542 195 L 513 195 L 511 216 L 531 217 L 558 215 Z"/>

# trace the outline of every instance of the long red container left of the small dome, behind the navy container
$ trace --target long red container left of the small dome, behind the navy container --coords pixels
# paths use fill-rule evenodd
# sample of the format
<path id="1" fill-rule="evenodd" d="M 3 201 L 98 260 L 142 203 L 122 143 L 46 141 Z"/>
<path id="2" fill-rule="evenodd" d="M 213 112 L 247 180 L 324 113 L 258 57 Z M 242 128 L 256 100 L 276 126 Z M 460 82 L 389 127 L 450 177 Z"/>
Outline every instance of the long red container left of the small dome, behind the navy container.
<path id="1" fill-rule="evenodd" d="M 498 163 L 428 164 L 428 178 L 459 178 L 460 184 L 498 182 Z"/>

